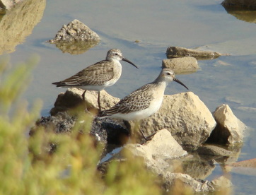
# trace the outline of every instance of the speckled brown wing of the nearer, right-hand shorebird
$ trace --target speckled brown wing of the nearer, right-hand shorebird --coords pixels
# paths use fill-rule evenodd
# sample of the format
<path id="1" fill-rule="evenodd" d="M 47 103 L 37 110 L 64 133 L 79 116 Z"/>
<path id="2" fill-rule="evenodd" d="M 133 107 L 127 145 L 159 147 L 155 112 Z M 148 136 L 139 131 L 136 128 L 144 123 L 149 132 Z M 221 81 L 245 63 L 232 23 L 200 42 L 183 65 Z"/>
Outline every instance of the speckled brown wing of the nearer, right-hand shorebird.
<path id="1" fill-rule="evenodd" d="M 153 93 L 153 83 L 146 84 L 120 100 L 114 107 L 111 107 L 109 110 L 104 110 L 100 115 L 110 116 L 116 113 L 128 114 L 130 112 L 144 110 L 149 107 L 153 99 Z"/>

